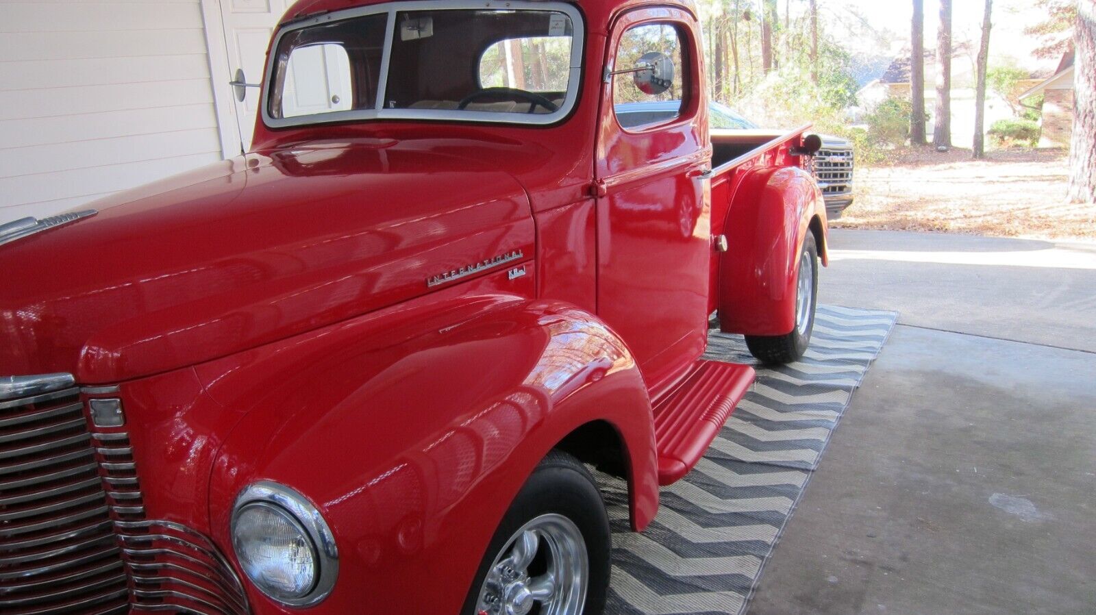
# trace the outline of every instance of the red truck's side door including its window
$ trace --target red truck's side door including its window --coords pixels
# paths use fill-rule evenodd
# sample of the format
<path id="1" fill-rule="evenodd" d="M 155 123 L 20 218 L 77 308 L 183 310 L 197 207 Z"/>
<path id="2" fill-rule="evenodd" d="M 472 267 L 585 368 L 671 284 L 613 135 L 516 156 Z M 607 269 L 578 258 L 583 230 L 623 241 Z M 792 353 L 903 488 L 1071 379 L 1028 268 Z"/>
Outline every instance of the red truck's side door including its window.
<path id="1" fill-rule="evenodd" d="M 626 13 L 609 36 L 606 66 L 616 73 L 602 92 L 598 314 L 629 344 L 651 388 L 688 367 L 707 335 L 711 146 L 692 24 L 676 9 Z M 655 52 L 672 60 L 669 87 L 627 71 Z"/>

